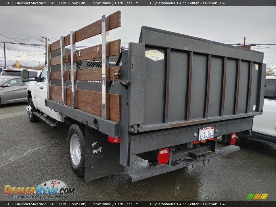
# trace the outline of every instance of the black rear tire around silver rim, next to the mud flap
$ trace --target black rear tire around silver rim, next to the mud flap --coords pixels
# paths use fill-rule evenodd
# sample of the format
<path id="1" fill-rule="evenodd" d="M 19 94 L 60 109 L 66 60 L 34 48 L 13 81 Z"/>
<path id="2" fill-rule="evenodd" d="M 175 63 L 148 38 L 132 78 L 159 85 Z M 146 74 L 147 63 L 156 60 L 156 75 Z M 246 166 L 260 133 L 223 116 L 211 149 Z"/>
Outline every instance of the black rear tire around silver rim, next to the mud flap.
<path id="1" fill-rule="evenodd" d="M 78 138 L 78 141 L 80 143 L 80 152 L 81 152 L 81 159 L 79 164 L 75 164 L 73 161 L 72 156 L 74 156 L 74 152 L 71 152 L 70 150 L 70 143 L 71 143 L 71 138 L 73 135 L 76 135 Z M 75 138 L 76 139 L 76 138 Z M 68 158 L 69 162 L 71 165 L 71 168 L 73 172 L 78 176 L 82 177 L 84 176 L 84 171 L 85 171 L 85 131 L 81 125 L 78 124 L 72 124 L 69 131 L 68 131 L 68 136 L 67 136 L 67 149 L 68 149 Z"/>

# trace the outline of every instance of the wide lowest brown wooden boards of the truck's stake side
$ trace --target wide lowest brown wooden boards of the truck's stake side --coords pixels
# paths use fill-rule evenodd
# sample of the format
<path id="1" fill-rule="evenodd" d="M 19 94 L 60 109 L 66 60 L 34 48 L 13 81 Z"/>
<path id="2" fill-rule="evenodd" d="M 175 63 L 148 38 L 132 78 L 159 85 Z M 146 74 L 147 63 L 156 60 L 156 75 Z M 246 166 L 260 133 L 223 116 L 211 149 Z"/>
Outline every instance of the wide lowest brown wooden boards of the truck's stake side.
<path id="1" fill-rule="evenodd" d="M 71 106 L 71 88 L 66 88 L 66 94 L 67 105 Z M 107 106 L 109 106 L 110 120 L 120 123 L 121 95 L 112 93 L 106 95 L 109 97 Z M 51 86 L 51 99 L 62 103 L 61 86 Z M 97 116 L 102 116 L 102 93 L 77 89 L 77 108 Z"/>

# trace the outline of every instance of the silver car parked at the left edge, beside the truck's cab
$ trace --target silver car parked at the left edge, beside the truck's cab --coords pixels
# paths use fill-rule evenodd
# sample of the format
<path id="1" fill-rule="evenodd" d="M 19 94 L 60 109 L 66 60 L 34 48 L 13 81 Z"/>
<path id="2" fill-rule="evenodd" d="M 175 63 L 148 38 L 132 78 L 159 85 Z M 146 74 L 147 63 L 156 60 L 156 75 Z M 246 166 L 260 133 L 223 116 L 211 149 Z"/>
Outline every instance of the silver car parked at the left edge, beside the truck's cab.
<path id="1" fill-rule="evenodd" d="M 28 101 L 29 83 L 22 82 L 19 76 L 0 76 L 0 105 Z"/>

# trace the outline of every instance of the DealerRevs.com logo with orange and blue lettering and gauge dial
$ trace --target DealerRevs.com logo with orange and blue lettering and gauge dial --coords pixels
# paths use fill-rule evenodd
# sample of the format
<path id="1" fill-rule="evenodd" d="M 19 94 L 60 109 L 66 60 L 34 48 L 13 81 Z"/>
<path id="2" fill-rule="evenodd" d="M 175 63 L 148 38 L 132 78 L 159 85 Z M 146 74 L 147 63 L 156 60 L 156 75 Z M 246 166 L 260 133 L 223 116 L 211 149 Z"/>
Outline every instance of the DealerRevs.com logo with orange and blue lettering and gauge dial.
<path id="1" fill-rule="evenodd" d="M 67 184 L 60 180 L 48 180 L 36 187 L 4 186 L 4 193 L 11 195 L 12 199 L 66 199 L 68 195 L 75 193 L 75 188 L 68 188 Z"/>

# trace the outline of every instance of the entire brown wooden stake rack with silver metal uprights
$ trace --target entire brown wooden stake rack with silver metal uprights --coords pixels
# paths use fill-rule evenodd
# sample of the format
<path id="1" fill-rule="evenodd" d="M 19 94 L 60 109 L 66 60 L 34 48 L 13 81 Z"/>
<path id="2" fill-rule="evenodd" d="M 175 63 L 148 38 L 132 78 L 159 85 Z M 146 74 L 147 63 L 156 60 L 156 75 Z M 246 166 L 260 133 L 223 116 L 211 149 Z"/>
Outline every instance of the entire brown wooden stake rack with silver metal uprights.
<path id="1" fill-rule="evenodd" d="M 47 98 L 79 110 L 101 116 L 105 120 L 120 122 L 120 100 L 118 94 L 109 93 L 109 81 L 120 66 L 109 66 L 109 57 L 120 55 L 121 40 L 109 41 L 109 31 L 121 26 L 121 12 L 106 16 L 67 36 L 47 45 L 48 93 Z M 76 42 L 101 34 L 100 45 L 76 50 Z M 65 53 L 65 46 L 70 45 L 70 52 Z M 51 57 L 51 52 L 60 50 L 60 55 Z M 95 60 L 101 58 L 101 68 L 77 70 L 76 61 Z M 69 63 L 66 65 L 66 63 Z M 51 71 L 51 67 L 59 65 L 60 71 Z M 70 67 L 70 68 L 69 68 Z M 51 80 L 61 80 L 61 86 L 51 84 Z M 66 80 L 71 86 L 66 87 Z M 115 81 L 119 81 L 120 77 Z M 77 81 L 101 81 L 102 92 L 77 89 Z"/>

